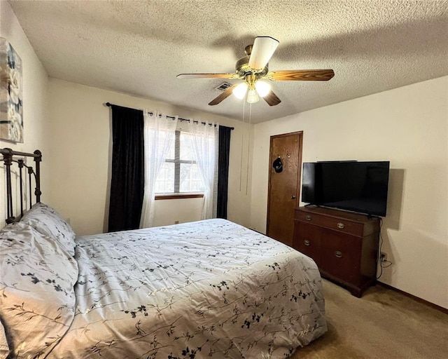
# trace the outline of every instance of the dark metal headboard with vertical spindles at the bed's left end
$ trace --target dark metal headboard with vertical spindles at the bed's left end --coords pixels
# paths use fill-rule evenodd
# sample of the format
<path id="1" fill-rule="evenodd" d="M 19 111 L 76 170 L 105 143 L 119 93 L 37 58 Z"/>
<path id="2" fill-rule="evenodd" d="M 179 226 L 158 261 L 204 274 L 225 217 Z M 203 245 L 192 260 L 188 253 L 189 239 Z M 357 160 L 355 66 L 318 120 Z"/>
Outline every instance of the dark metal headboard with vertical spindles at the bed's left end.
<path id="1" fill-rule="evenodd" d="M 6 208 L 7 208 L 7 217 L 6 223 L 15 222 L 17 219 L 22 217 L 24 212 L 24 189 L 23 189 L 23 180 L 22 180 L 22 170 L 23 168 L 27 168 L 28 176 L 29 176 L 29 208 L 33 205 L 33 191 L 32 191 L 32 178 L 34 177 L 34 183 L 36 187 L 34 188 L 34 195 L 36 196 L 36 202 L 41 201 L 41 161 L 42 154 L 41 151 L 36 149 L 34 153 L 28 154 L 26 152 L 13 151 L 12 149 L 0 149 L 0 154 L 3 155 L 3 163 L 5 164 L 6 171 Z M 32 157 L 34 158 L 35 169 L 30 165 L 25 164 L 24 157 Z M 20 182 L 20 217 L 14 215 L 13 208 L 13 190 L 11 185 L 11 165 L 13 163 L 18 163 L 19 168 L 19 182 Z M 25 189 L 26 191 L 26 189 Z M 26 192 L 25 192 L 26 193 Z M 27 203 L 25 203 L 26 209 Z"/>

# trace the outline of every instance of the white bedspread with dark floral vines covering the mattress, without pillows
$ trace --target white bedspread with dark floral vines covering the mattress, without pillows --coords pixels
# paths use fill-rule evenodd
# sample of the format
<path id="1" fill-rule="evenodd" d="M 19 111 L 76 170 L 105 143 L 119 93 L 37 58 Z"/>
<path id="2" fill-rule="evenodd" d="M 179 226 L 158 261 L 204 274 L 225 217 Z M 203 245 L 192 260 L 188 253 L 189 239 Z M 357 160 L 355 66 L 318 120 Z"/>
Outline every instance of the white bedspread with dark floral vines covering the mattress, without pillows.
<path id="1" fill-rule="evenodd" d="M 49 358 L 286 358 L 327 330 L 316 264 L 224 219 L 76 241 L 76 313 Z"/>

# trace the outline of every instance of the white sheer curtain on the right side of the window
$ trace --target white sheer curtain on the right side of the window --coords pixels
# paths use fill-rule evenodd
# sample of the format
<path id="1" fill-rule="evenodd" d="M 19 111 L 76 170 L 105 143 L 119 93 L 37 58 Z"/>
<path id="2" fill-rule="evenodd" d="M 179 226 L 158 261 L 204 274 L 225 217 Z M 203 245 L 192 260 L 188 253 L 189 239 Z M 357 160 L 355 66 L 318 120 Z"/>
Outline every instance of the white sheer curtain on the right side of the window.
<path id="1" fill-rule="evenodd" d="M 204 125 L 190 120 L 188 130 L 192 135 L 195 160 L 197 161 L 202 182 L 204 198 L 201 219 L 216 218 L 218 196 L 218 124 Z"/>

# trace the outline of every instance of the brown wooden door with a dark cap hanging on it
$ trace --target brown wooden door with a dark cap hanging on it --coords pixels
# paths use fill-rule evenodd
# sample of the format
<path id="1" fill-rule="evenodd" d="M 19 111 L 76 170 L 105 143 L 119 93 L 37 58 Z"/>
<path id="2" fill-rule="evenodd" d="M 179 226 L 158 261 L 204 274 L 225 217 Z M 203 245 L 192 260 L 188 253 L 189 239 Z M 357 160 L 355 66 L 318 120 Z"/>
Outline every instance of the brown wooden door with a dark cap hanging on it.
<path id="1" fill-rule="evenodd" d="M 281 172 L 272 163 L 280 158 Z M 267 236 L 293 245 L 294 208 L 300 202 L 302 131 L 271 136 L 267 195 Z"/>

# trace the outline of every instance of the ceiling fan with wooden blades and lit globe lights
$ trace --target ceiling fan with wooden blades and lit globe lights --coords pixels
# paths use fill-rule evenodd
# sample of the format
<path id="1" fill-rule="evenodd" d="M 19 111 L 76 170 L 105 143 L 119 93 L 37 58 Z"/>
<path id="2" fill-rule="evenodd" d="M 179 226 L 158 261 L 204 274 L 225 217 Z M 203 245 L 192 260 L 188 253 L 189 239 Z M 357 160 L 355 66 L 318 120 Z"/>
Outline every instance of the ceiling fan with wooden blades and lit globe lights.
<path id="1" fill-rule="evenodd" d="M 246 56 L 235 65 L 234 74 L 179 74 L 178 79 L 241 79 L 209 102 L 210 106 L 219 104 L 232 93 L 239 99 L 246 97 L 247 102 L 258 102 L 262 97 L 269 106 L 279 104 L 281 100 L 275 95 L 270 81 L 328 81 L 335 76 L 332 69 L 284 70 L 269 72 L 267 62 L 279 46 L 279 41 L 270 36 L 255 37 L 253 45 L 244 49 Z"/>

